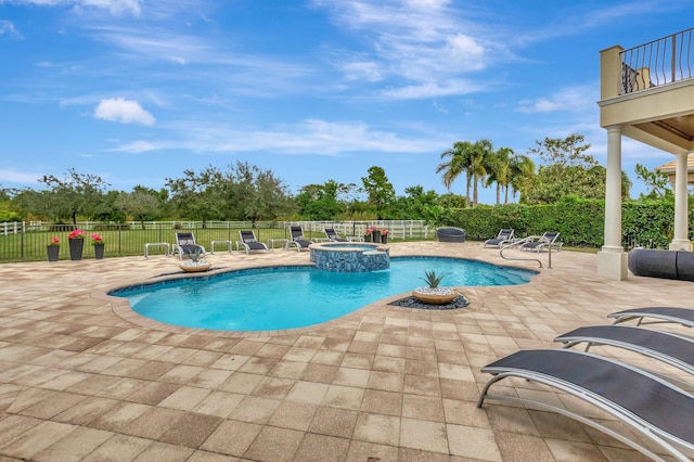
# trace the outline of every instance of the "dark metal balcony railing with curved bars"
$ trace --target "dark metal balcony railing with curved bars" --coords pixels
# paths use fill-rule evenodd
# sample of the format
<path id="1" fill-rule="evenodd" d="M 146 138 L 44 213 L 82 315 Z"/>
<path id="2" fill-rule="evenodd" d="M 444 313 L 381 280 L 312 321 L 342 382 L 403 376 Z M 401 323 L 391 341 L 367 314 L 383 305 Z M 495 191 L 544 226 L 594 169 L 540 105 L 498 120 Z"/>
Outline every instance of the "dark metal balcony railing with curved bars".
<path id="1" fill-rule="evenodd" d="M 694 28 L 621 52 L 621 91 L 633 93 L 692 77 Z"/>

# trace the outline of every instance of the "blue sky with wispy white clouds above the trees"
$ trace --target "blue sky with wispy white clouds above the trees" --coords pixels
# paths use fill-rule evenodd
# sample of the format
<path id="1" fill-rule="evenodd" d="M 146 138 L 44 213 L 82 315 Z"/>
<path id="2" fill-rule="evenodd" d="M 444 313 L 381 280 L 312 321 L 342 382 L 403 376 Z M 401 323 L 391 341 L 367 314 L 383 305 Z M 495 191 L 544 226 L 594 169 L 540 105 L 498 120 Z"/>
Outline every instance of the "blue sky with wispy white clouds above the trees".
<path id="1" fill-rule="evenodd" d="M 604 165 L 600 50 L 692 17 L 690 0 L 0 0 L 0 187 L 75 168 L 158 190 L 242 161 L 294 193 L 373 165 L 399 195 L 444 193 L 455 141 L 524 154 L 571 132 Z M 622 150 L 632 196 L 637 163 L 674 158 Z"/>

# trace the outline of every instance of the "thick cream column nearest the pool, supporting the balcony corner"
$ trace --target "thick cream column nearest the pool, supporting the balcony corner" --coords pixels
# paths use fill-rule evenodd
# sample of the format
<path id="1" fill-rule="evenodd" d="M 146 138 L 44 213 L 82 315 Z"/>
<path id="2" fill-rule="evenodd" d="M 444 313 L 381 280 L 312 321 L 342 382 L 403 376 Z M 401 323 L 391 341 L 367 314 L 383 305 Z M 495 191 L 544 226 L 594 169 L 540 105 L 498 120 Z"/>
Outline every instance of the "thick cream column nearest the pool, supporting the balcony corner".
<path id="1" fill-rule="evenodd" d="M 621 246 L 621 127 L 606 129 L 605 242 L 597 253 L 597 274 L 624 281 L 627 279 L 627 253 Z"/>

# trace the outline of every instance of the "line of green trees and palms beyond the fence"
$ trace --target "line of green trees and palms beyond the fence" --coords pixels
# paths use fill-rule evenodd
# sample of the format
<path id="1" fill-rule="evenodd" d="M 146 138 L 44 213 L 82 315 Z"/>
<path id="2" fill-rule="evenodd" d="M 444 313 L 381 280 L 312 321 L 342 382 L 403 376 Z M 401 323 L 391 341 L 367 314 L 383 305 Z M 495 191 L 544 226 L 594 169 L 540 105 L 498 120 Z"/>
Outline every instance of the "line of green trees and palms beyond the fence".
<path id="1" fill-rule="evenodd" d="M 448 189 L 446 194 L 415 184 L 397 195 L 378 166 L 370 167 L 359 184 L 329 179 L 307 184 L 296 194 L 272 170 L 242 162 L 226 169 L 211 165 L 201 171 L 185 169 L 180 178 L 166 178 L 158 191 L 143 185 L 113 191 L 101 177 L 69 169 L 63 178 L 43 176 L 39 181 L 44 188 L 39 190 L 0 189 L 0 222 L 416 219 L 450 224 L 453 210 L 478 205 L 479 187 L 496 189 L 497 205 L 516 196 L 528 205 L 554 204 L 569 195 L 603 198 L 606 169 L 586 154 L 589 149 L 579 133 L 538 140 L 525 154 L 494 149 L 490 140 L 457 141 L 433 166 Z M 541 165 L 536 168 L 531 157 Z M 463 176 L 464 190 L 452 192 Z M 664 174 L 638 165 L 637 176 L 652 187 L 648 196 L 671 195 Z M 622 171 L 624 200 L 629 200 L 630 187 Z"/>

